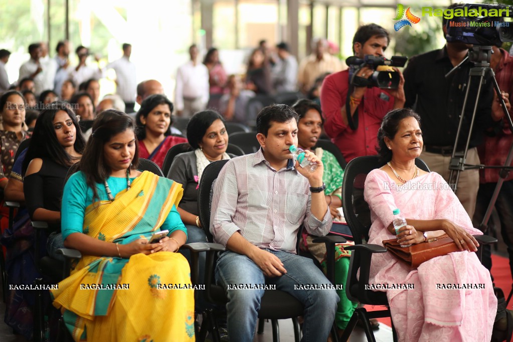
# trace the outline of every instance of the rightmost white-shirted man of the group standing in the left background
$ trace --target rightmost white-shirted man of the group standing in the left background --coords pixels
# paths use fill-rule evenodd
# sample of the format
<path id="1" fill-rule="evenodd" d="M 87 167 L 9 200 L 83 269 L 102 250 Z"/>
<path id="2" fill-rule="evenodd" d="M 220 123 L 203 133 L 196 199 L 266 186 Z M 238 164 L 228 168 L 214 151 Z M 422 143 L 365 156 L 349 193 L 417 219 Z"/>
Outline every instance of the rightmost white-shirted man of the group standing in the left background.
<path id="1" fill-rule="evenodd" d="M 137 82 L 135 78 L 135 64 L 130 62 L 132 46 L 123 44 L 123 57 L 116 59 L 107 65 L 107 69 L 114 69 L 116 72 L 116 94 L 120 95 L 125 102 L 125 108 L 128 113 L 133 112 L 135 105 L 133 99 Z"/>

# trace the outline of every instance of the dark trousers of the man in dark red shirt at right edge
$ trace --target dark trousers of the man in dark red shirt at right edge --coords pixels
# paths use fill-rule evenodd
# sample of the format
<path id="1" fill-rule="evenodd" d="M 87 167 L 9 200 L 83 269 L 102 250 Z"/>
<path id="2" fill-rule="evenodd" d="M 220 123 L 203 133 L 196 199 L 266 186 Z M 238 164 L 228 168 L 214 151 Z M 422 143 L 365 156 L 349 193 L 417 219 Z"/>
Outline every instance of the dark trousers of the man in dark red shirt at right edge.
<path id="1" fill-rule="evenodd" d="M 479 227 L 483 220 L 486 208 L 490 203 L 492 194 L 494 193 L 497 183 L 486 183 L 479 185 L 478 197 L 476 201 L 476 211 L 473 217 L 473 224 Z M 497 197 L 495 208 L 499 214 L 501 222 L 501 235 L 504 243 L 506 244 L 509 255 L 509 268 L 513 274 L 513 205 L 511 199 L 513 198 L 513 180 L 508 180 L 502 184 L 501 191 Z M 488 221 L 488 225 L 491 220 Z M 489 234 L 485 233 L 485 234 Z M 483 246 L 482 264 L 488 270 L 491 270 L 491 246 Z M 492 278 L 493 279 L 493 278 Z"/>

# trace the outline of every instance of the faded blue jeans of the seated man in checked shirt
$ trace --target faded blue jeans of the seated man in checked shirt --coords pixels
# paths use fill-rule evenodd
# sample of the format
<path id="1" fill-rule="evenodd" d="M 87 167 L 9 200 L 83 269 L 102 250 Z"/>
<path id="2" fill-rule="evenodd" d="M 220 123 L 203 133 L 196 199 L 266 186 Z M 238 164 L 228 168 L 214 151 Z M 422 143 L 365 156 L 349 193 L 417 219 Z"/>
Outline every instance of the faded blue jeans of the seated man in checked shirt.
<path id="1" fill-rule="evenodd" d="M 275 278 L 264 276 L 262 270 L 249 257 L 227 251 L 221 254 L 215 267 L 218 284 L 228 288 L 228 284 L 268 284 L 277 290 L 290 293 L 303 303 L 302 341 L 325 341 L 328 338 L 339 296 L 334 289 L 294 290 L 294 285 L 330 284 L 322 271 L 311 259 L 287 252 L 266 251 L 278 256 L 287 273 Z M 251 342 L 257 325 L 260 300 L 263 289 L 227 290 L 228 336 L 236 336 L 240 342 Z"/>

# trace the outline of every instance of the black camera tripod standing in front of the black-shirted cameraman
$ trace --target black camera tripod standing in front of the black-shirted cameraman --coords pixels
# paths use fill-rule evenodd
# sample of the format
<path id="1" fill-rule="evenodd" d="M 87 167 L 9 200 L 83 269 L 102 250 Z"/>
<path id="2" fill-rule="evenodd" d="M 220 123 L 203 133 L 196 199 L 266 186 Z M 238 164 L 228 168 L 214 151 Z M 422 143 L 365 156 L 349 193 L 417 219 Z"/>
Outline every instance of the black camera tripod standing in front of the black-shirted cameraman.
<path id="1" fill-rule="evenodd" d="M 485 169 L 485 168 L 487 168 L 487 169 L 501 169 L 501 171 L 499 173 L 499 180 L 497 182 L 497 186 L 495 187 L 494 193 L 492 194 L 492 197 L 490 199 L 490 203 L 488 204 L 488 207 L 486 208 L 486 212 L 484 214 L 483 220 L 482 220 L 481 224 L 478 227 L 479 230 L 481 230 L 483 233 L 485 233 L 488 230 L 488 220 L 490 219 L 491 212 L 492 212 L 493 208 L 495 207 L 495 203 L 497 202 L 497 197 L 499 196 L 499 192 L 501 190 L 502 184 L 504 183 L 504 179 L 508 176 L 509 170 L 513 169 L 513 167 L 510 166 L 511 165 L 511 161 L 513 160 L 513 145 L 510 146 L 510 148 L 509 148 L 509 153 L 508 153 L 508 156 L 506 158 L 506 162 L 504 163 L 503 166 L 485 166 L 485 165 L 469 165 L 469 164 L 465 164 L 465 159 L 466 159 L 467 152 L 468 152 L 468 146 L 470 144 L 470 136 L 471 136 L 471 133 L 472 133 L 472 130 L 473 130 L 473 124 L 475 122 L 476 112 L 477 112 L 477 109 L 478 109 L 479 96 L 480 96 L 480 93 L 481 93 L 481 87 L 483 85 L 484 77 L 487 74 L 489 74 L 491 76 L 491 79 L 494 82 L 494 89 L 495 89 L 495 92 L 497 93 L 497 96 L 500 98 L 501 107 L 502 107 L 502 110 L 504 111 L 504 116 L 507 119 L 509 127 L 513 128 L 513 122 L 511 120 L 511 117 L 509 116 L 509 113 L 508 113 L 507 109 L 506 109 L 506 104 L 504 103 L 504 100 L 502 99 L 501 90 L 499 88 L 499 84 L 497 83 L 497 79 L 495 78 L 495 72 L 490 68 L 490 63 L 489 63 L 490 62 L 490 57 L 491 57 L 491 46 L 474 46 L 472 48 L 472 50 L 469 51 L 469 53 L 468 53 L 467 58 L 471 62 L 475 62 L 475 67 L 470 69 L 470 72 L 469 72 L 469 75 L 468 75 L 467 89 L 466 89 L 466 92 L 465 92 L 465 98 L 464 98 L 464 101 L 463 101 L 463 108 L 462 108 L 461 115 L 460 115 L 460 123 L 458 125 L 458 132 L 456 134 L 456 141 L 455 141 L 455 144 L 454 144 L 454 148 L 452 150 L 452 155 L 451 155 L 450 164 L 449 164 L 450 175 L 449 175 L 449 182 L 448 182 L 449 184 L 453 185 L 453 190 L 456 193 L 456 191 L 458 189 L 458 180 L 459 180 L 460 172 L 461 171 L 471 170 L 471 169 Z M 465 61 L 465 59 L 464 59 L 464 61 Z M 464 61 L 462 61 L 462 63 Z M 461 63 L 458 66 L 456 66 L 455 69 L 458 68 L 460 65 L 461 65 Z M 453 69 L 453 70 L 455 70 L 455 69 Z M 449 72 L 449 74 L 453 70 L 451 70 Z M 466 140 L 466 144 L 465 144 L 465 149 L 464 149 L 463 153 L 461 153 L 461 152 L 456 152 L 456 151 L 457 151 L 457 148 L 458 148 L 458 140 L 460 138 L 460 134 L 461 134 L 462 126 L 463 126 L 465 107 L 467 105 L 468 94 L 469 94 L 469 90 L 470 90 L 470 83 L 471 83 L 471 80 L 472 80 L 472 76 L 479 76 L 479 86 L 478 86 L 478 91 L 477 91 L 477 96 L 476 96 L 476 103 L 474 105 L 473 112 L 472 112 L 472 118 L 471 118 L 471 122 L 470 122 L 470 129 L 469 129 L 469 132 L 468 132 L 468 136 L 467 136 L 467 140 Z M 513 289 L 509 293 L 509 296 L 508 296 L 508 299 L 507 299 L 506 303 L 509 303 L 509 300 L 511 299 L 512 295 L 513 295 Z"/>

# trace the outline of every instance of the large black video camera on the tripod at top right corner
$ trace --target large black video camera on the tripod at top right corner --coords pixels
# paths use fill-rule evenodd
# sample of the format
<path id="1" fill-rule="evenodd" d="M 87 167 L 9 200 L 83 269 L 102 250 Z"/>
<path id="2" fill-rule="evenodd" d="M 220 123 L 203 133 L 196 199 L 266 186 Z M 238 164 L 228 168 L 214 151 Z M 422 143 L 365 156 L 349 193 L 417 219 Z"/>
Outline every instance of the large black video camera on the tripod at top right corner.
<path id="1" fill-rule="evenodd" d="M 501 45 L 513 42 L 513 22 L 504 17 L 513 16 L 513 7 L 503 4 L 461 4 L 446 9 L 448 18 L 447 42 L 462 42 L 473 45 Z"/>

